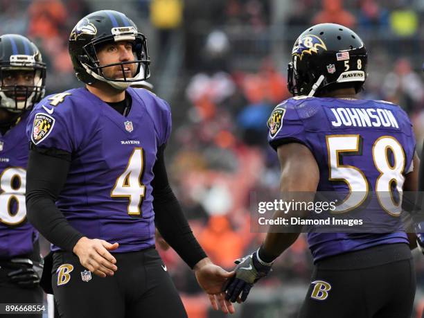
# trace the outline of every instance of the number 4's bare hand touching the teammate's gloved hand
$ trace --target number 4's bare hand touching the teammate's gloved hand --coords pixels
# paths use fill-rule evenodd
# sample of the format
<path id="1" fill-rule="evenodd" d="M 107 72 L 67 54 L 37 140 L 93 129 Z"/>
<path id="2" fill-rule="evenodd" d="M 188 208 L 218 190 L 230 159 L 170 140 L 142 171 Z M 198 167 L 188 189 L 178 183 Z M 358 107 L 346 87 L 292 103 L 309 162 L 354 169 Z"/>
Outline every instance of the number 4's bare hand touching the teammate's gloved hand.
<path id="1" fill-rule="evenodd" d="M 225 299 L 222 285 L 233 276 L 233 272 L 227 272 L 215 265 L 209 258 L 203 258 L 194 267 L 197 283 L 209 295 L 213 309 L 221 308 L 222 312 L 233 314 L 236 312 L 232 303 Z M 219 306 L 218 306 L 219 305 Z"/>

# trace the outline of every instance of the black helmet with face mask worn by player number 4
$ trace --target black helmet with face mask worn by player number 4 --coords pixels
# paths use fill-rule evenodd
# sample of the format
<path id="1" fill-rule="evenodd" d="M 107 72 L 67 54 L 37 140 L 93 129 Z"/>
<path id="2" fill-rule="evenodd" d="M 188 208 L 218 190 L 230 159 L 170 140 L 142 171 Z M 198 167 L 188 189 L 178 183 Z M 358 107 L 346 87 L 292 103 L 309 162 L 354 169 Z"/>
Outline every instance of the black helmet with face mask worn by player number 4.
<path id="1" fill-rule="evenodd" d="M 134 61 L 100 65 L 96 48 L 107 42 L 131 41 Z M 69 55 L 76 76 L 86 84 L 100 80 L 116 89 L 126 89 L 134 82 L 150 77 L 150 58 L 145 36 L 137 30 L 134 22 L 121 12 L 100 10 L 83 17 L 73 28 L 69 37 Z M 125 76 L 126 64 L 136 64 L 134 77 Z M 107 78 L 103 68 L 121 65 L 122 78 Z"/>

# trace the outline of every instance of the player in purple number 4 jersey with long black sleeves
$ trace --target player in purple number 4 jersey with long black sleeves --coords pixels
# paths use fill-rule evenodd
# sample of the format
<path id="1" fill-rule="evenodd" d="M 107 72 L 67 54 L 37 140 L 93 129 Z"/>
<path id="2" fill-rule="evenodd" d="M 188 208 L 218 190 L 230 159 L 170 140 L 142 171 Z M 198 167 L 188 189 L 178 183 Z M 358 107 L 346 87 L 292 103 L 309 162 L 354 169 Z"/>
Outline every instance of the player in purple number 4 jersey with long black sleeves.
<path id="1" fill-rule="evenodd" d="M 44 98 L 27 129 L 28 218 L 55 245 L 60 317 L 186 317 L 155 225 L 213 307 L 233 312 L 221 292 L 231 273 L 206 257 L 168 184 L 170 107 L 130 87 L 150 76 L 145 36 L 101 10 L 73 28 L 69 54 L 85 87 Z"/>

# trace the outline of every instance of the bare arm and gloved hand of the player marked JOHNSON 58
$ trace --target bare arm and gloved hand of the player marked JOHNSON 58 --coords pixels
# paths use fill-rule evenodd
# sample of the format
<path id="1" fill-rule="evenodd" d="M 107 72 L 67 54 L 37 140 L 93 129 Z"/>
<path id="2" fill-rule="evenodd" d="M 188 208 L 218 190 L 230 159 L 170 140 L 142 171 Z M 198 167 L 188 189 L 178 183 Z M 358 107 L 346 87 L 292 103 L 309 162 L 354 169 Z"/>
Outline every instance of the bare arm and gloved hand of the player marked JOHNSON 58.
<path id="1" fill-rule="evenodd" d="M 310 150 L 301 143 L 288 143 L 279 146 L 277 153 L 281 165 L 281 199 L 313 201 L 319 182 L 319 169 Z M 288 211 L 289 214 L 291 212 Z M 300 213 L 297 214 L 298 217 L 306 216 L 303 211 L 296 213 Z M 276 211 L 274 218 L 286 215 Z M 245 301 L 254 283 L 270 272 L 274 259 L 297 240 L 301 227 L 292 229 L 290 233 L 278 232 L 278 229 L 273 231 L 273 227 L 270 227 L 260 249 L 238 260 L 235 276 L 224 286 L 227 300 Z"/>

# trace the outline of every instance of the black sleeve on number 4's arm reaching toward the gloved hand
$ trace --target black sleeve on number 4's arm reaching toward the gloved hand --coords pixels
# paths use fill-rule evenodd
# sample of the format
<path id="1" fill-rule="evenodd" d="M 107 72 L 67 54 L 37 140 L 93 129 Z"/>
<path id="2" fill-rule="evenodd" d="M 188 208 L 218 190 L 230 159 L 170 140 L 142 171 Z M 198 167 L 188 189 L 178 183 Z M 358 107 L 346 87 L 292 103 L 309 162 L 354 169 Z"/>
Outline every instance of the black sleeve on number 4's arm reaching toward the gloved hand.
<path id="1" fill-rule="evenodd" d="M 157 161 L 153 167 L 152 195 L 154 223 L 166 242 L 193 268 L 206 253 L 197 242 L 191 227 L 168 182 L 164 161 L 165 145 L 157 151 Z"/>

